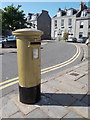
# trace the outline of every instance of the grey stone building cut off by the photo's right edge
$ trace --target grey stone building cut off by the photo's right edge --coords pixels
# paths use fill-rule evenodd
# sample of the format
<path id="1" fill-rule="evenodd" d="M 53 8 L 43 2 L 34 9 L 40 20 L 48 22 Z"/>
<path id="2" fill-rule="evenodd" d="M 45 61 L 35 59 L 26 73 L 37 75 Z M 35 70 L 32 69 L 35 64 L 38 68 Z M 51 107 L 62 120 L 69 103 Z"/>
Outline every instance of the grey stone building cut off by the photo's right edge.
<path id="1" fill-rule="evenodd" d="M 76 15 L 76 38 L 90 37 L 90 8 L 81 2 Z"/>

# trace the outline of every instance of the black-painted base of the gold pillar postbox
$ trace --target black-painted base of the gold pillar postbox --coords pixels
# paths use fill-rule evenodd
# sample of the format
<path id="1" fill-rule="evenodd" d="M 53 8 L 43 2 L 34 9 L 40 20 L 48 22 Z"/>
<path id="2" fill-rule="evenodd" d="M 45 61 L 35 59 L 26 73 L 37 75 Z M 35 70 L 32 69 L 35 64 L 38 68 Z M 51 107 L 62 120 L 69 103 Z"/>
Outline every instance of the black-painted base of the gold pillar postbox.
<path id="1" fill-rule="evenodd" d="M 40 85 L 30 88 L 19 86 L 19 98 L 25 104 L 37 103 L 41 98 Z"/>

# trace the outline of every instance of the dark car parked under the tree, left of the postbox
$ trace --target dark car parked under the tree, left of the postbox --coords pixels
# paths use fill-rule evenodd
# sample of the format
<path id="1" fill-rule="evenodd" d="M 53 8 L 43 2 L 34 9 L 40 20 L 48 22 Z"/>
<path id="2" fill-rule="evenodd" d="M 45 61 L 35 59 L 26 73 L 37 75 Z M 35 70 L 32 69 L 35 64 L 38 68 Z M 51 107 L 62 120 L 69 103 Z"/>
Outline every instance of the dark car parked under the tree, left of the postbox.
<path id="1" fill-rule="evenodd" d="M 2 48 L 4 47 L 16 47 L 16 36 L 11 35 L 2 41 Z"/>

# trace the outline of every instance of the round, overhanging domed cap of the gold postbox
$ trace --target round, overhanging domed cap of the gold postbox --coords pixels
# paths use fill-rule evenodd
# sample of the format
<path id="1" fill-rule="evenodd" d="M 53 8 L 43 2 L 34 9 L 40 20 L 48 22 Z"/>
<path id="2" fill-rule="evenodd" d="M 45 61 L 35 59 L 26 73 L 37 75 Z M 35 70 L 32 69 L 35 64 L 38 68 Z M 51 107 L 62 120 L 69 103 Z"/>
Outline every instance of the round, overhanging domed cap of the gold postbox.
<path id="1" fill-rule="evenodd" d="M 41 36 L 42 34 L 42 31 L 31 28 L 17 29 L 13 31 L 13 35 L 16 36 Z"/>

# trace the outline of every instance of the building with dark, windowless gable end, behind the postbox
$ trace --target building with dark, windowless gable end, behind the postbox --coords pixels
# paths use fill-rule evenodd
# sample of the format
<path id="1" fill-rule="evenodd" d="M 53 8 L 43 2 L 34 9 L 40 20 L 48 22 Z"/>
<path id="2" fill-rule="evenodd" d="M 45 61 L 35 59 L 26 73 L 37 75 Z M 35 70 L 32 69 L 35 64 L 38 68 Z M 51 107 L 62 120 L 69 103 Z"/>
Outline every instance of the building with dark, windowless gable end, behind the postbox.
<path id="1" fill-rule="evenodd" d="M 48 11 L 42 10 L 41 13 L 28 14 L 27 17 L 28 27 L 38 29 L 44 32 L 41 36 L 42 39 L 51 39 L 51 18 Z"/>

